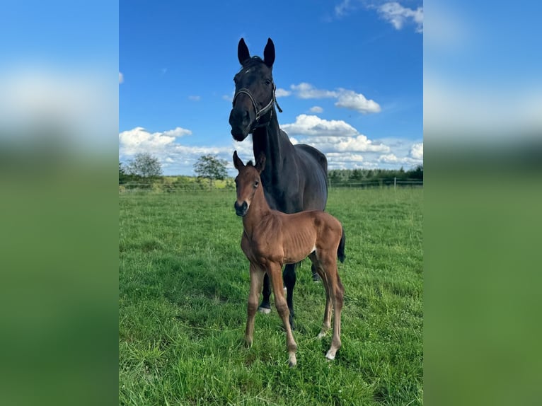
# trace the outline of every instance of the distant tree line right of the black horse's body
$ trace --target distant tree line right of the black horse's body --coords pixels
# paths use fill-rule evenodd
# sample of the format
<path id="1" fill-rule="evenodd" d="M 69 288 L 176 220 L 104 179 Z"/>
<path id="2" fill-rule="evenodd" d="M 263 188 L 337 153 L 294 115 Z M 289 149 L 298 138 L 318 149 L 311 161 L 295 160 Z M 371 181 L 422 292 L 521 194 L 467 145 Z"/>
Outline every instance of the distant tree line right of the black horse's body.
<path id="1" fill-rule="evenodd" d="M 330 185 L 347 185 L 356 182 L 394 180 L 423 180 L 423 165 L 410 170 L 400 169 L 332 169 L 328 171 Z"/>

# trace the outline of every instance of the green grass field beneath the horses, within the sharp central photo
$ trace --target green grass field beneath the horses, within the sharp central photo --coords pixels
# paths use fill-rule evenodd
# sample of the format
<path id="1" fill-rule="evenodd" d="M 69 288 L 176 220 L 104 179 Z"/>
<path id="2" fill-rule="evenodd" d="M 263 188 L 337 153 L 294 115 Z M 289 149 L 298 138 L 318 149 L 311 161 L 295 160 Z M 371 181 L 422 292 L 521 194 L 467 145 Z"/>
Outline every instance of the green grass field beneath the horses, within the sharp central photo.
<path id="1" fill-rule="evenodd" d="M 347 235 L 342 348 L 316 340 L 325 305 L 297 271 L 289 369 L 275 308 L 243 346 L 249 289 L 234 191 L 121 194 L 120 405 L 421 405 L 422 189 L 330 190 Z"/>

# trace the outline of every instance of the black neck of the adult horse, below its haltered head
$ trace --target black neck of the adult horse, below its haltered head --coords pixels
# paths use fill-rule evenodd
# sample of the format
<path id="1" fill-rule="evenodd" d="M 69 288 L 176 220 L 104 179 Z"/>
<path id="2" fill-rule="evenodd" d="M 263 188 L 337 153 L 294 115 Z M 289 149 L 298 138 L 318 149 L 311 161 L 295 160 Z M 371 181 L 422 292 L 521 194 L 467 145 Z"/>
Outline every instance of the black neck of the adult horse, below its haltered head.
<path id="1" fill-rule="evenodd" d="M 288 136 L 280 131 L 275 108 L 272 109 L 269 125 L 256 129 L 252 139 L 254 158 L 257 159 L 260 153 L 265 153 L 265 170 L 262 173 L 265 184 L 265 178 L 271 180 L 282 173 L 284 156 L 293 147 Z"/>

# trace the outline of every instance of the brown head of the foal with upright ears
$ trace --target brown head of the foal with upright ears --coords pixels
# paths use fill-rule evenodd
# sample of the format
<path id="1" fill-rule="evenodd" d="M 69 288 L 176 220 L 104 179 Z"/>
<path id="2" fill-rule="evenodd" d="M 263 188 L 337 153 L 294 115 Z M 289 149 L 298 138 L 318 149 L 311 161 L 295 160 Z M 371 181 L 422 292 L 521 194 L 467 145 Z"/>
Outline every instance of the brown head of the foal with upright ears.
<path id="1" fill-rule="evenodd" d="M 261 153 L 256 165 L 253 166 L 251 161 L 245 165 L 235 151 L 233 152 L 233 166 L 239 171 L 235 178 L 237 200 L 233 206 L 236 214 L 243 217 L 246 215 L 258 187 L 261 187 L 260 173 L 265 167 L 265 154 Z"/>

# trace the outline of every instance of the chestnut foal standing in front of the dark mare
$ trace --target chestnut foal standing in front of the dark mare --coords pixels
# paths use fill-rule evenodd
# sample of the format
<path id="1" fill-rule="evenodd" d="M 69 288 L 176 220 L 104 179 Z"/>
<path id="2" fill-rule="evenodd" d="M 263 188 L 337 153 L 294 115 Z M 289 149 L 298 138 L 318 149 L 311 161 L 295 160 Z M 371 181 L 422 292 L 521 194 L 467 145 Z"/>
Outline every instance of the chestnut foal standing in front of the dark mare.
<path id="1" fill-rule="evenodd" d="M 300 262 L 309 256 L 325 287 L 325 311 L 318 338 L 330 329 L 333 317 L 333 339 L 327 359 L 335 359 L 340 348 L 340 312 L 345 289 L 337 271 L 337 257 L 345 259 L 345 237 L 342 225 L 328 213 L 320 210 L 284 214 L 270 209 L 263 193 L 260 173 L 265 167 L 265 155 L 260 154 L 255 166 L 247 165 L 233 153 L 233 165 L 239 171 L 236 182 L 236 214 L 243 217 L 241 248 L 250 261 L 250 295 L 245 340 L 253 342 L 254 318 L 265 273 L 270 277 L 275 306 L 284 329 L 289 355 L 289 365 L 296 365 L 297 344 L 289 323 L 289 310 L 282 288 L 282 265 Z"/>

